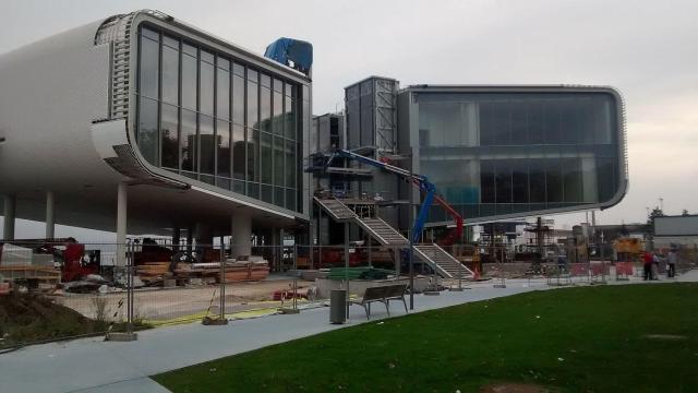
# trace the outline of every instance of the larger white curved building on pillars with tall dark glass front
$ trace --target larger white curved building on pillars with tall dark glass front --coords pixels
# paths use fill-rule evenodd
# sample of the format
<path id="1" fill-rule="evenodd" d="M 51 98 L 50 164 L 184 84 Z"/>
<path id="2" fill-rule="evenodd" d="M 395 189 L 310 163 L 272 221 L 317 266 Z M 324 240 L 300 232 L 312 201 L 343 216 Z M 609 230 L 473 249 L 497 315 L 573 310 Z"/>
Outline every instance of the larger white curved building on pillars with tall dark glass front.
<path id="1" fill-rule="evenodd" d="M 47 237 L 60 223 L 119 242 L 231 236 L 236 255 L 279 243 L 309 219 L 310 108 L 310 72 L 158 11 L 3 53 L 4 234 L 19 217 L 46 218 Z"/>

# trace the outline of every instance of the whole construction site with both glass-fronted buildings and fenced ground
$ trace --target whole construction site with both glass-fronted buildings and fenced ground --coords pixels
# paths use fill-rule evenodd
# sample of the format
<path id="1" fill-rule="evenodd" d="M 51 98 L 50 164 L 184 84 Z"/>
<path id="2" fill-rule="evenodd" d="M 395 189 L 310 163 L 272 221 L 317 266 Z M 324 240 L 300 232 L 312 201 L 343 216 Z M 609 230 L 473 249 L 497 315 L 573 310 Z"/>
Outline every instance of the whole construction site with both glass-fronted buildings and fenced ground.
<path id="1" fill-rule="evenodd" d="M 614 88 L 369 76 L 313 116 L 312 49 L 280 38 L 261 56 L 136 11 L 4 55 L 0 348 L 298 313 L 337 291 L 370 319 L 369 300 L 408 312 L 407 297 L 473 284 L 639 277 L 647 252 L 696 265 L 683 233 L 661 246 L 654 228 L 595 225 L 628 183 Z M 43 98 L 56 91 L 80 103 Z M 27 115 L 32 100 L 58 115 Z M 64 140 L 80 148 L 46 147 Z M 591 222 L 544 218 L 568 212 Z M 46 236 L 15 238 L 19 218 Z M 58 238 L 57 224 L 117 240 Z M 85 329 L 46 327 L 51 307 Z"/>

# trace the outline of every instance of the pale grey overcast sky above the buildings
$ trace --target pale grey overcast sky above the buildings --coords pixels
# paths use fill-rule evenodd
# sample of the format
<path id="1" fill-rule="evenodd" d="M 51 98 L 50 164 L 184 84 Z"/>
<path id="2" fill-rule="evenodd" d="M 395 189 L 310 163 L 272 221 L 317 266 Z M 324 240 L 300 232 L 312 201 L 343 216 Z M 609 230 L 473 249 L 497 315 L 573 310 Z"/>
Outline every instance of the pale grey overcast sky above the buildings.
<path id="1" fill-rule="evenodd" d="M 260 53 L 281 36 L 311 41 L 316 115 L 341 109 L 344 87 L 369 75 L 402 86 L 615 86 L 627 108 L 630 188 L 598 222 L 643 221 L 659 198 L 667 214 L 698 213 L 696 1 L 2 0 L 0 52 L 143 8 Z M 17 237 L 43 233 L 31 228 Z"/>

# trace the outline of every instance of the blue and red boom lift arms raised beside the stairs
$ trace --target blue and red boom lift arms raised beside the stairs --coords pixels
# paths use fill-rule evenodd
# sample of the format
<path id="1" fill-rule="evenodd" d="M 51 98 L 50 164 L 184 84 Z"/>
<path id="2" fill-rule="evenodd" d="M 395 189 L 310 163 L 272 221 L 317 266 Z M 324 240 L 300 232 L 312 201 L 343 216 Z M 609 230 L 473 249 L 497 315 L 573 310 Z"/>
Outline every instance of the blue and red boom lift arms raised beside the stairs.
<path id="1" fill-rule="evenodd" d="M 458 212 L 456 212 L 456 210 L 454 210 L 441 195 L 438 195 L 436 193 L 436 186 L 434 186 L 434 183 L 430 182 L 429 179 L 426 178 L 426 176 L 423 175 L 418 175 L 418 174 L 413 174 L 407 169 L 400 168 L 400 167 L 396 167 L 394 165 L 390 165 L 388 163 L 384 163 L 381 160 L 376 160 L 373 158 L 369 158 L 369 157 L 364 157 L 360 154 L 350 152 L 350 151 L 346 151 L 346 150 L 341 150 L 341 148 L 337 148 L 330 156 L 329 159 L 327 159 L 327 162 L 325 163 L 325 168 L 329 167 L 329 165 L 332 164 L 332 162 L 335 158 L 348 158 L 348 159 L 356 159 L 360 163 L 366 164 L 366 165 L 371 165 L 374 166 L 376 168 L 381 168 L 384 170 L 387 170 L 389 172 L 396 174 L 398 176 L 400 176 L 401 178 L 410 181 L 412 184 L 414 184 L 417 188 L 419 188 L 420 191 L 424 192 L 424 200 L 422 201 L 422 205 L 419 209 L 419 213 L 417 214 L 417 219 L 414 221 L 414 225 L 412 227 L 412 238 L 410 239 L 412 241 L 412 243 L 418 243 L 419 242 L 419 238 L 422 235 L 422 230 L 424 229 L 424 224 L 426 223 L 426 216 L 429 214 L 429 207 L 432 205 L 433 202 L 436 202 L 444 211 L 446 211 L 446 213 L 448 213 L 448 215 L 450 215 L 456 224 L 456 227 L 454 229 L 452 229 L 446 237 L 444 237 L 443 239 L 441 239 L 440 241 L 437 241 L 436 243 L 438 246 L 450 246 L 453 245 L 456 240 L 458 240 L 460 238 L 460 236 L 462 235 L 462 216 L 460 214 L 458 214 Z"/>

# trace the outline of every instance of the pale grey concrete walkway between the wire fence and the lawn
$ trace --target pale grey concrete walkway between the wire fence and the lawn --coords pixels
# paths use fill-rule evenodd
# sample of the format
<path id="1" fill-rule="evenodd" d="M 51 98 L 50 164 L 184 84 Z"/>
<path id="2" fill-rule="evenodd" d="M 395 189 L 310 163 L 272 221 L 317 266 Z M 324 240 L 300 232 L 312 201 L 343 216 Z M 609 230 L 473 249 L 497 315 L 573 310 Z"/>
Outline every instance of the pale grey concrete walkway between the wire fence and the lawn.
<path id="1" fill-rule="evenodd" d="M 677 281 L 698 281 L 698 271 Z M 638 281 L 633 278 L 629 283 Z M 482 282 L 471 285 L 470 289 L 443 291 L 440 296 L 418 295 L 414 312 L 551 288 L 542 279 L 507 279 L 506 288 L 493 288 L 493 284 Z M 405 309 L 393 302 L 390 313 L 402 315 Z M 370 322 L 386 317 L 385 308 L 374 305 Z M 0 391 L 167 392 L 148 376 L 366 323 L 363 309 L 356 306 L 350 308 L 347 324 L 333 325 L 328 319 L 329 309 L 325 307 L 299 314 L 233 321 L 226 326 L 191 323 L 160 327 L 139 333 L 139 341 L 131 343 L 85 338 L 29 346 L 0 355 Z"/>

